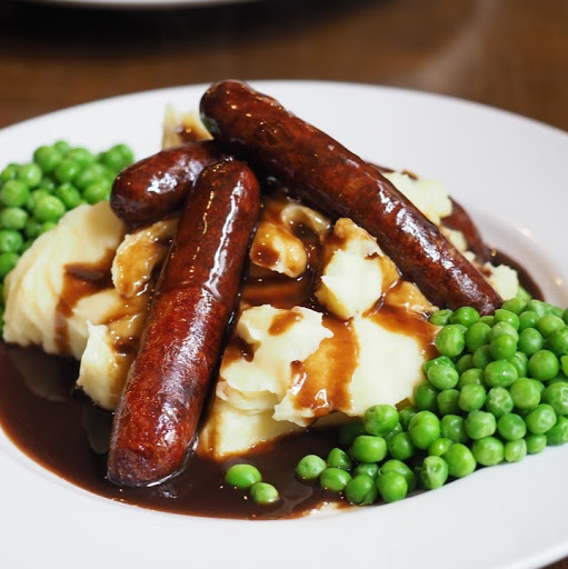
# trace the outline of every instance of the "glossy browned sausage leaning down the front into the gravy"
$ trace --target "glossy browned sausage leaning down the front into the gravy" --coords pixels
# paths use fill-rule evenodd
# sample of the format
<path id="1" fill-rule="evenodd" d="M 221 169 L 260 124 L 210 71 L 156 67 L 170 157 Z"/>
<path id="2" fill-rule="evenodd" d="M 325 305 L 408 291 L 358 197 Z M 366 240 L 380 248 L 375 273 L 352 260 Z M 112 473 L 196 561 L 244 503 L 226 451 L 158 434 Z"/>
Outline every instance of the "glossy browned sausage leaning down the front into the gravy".
<path id="1" fill-rule="evenodd" d="M 188 197 L 112 423 L 108 477 L 147 486 L 182 467 L 235 310 L 260 208 L 252 171 L 207 167 Z"/>

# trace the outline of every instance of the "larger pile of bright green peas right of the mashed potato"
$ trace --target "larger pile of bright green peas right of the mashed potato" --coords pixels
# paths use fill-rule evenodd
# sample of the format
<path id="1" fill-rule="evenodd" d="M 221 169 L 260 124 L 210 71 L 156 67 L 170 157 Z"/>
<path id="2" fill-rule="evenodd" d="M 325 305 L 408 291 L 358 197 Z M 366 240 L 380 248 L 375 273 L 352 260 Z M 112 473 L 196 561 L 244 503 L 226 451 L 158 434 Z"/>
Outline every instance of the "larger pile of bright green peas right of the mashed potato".
<path id="1" fill-rule="evenodd" d="M 568 442 L 568 309 L 514 298 L 494 316 L 464 307 L 430 321 L 439 356 L 413 405 L 369 408 L 326 459 L 299 461 L 300 479 L 355 505 L 392 502 Z"/>

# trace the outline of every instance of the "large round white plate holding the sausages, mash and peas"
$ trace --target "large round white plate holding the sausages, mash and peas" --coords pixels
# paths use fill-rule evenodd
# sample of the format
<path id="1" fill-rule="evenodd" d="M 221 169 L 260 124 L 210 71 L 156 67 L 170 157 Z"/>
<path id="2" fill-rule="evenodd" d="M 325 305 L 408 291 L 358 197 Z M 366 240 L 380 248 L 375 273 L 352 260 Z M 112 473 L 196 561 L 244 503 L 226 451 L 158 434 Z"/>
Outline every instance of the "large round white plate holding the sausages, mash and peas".
<path id="1" fill-rule="evenodd" d="M 398 89 L 253 83 L 378 163 L 445 180 L 490 241 L 568 306 L 568 136 L 478 104 Z M 67 138 L 137 157 L 159 149 L 165 107 L 197 108 L 203 86 L 76 107 L 0 131 L 2 163 Z M 76 488 L 0 432 L 0 559 L 6 567 L 521 568 L 568 555 L 568 449 L 484 469 L 402 502 L 282 521 L 153 512 Z"/>

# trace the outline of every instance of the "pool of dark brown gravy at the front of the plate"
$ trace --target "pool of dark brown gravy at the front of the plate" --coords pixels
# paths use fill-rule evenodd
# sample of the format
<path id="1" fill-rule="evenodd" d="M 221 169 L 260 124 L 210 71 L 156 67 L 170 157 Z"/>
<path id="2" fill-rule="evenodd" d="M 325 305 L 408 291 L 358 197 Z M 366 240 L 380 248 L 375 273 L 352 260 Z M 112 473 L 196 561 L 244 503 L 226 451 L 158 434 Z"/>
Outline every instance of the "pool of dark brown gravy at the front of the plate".
<path id="1" fill-rule="evenodd" d="M 246 519 L 297 517 L 326 502 L 342 503 L 293 475 L 305 455 L 329 452 L 337 440 L 332 430 L 282 438 L 222 462 L 196 456 L 183 473 L 160 486 L 119 488 L 106 478 L 112 416 L 74 389 L 77 362 L 1 343 L 0 369 L 0 425 L 14 445 L 53 473 L 104 498 L 175 513 Z M 281 500 L 256 506 L 246 492 L 223 486 L 226 470 L 236 462 L 257 466 Z"/>

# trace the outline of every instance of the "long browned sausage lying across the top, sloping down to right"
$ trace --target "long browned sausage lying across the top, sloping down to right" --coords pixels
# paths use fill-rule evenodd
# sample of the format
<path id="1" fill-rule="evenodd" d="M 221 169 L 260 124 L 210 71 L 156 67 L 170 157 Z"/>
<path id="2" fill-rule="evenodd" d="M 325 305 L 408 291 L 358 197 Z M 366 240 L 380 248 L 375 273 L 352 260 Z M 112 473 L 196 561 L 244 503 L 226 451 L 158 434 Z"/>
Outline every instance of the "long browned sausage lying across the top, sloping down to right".
<path id="1" fill-rule="evenodd" d="M 335 217 L 349 217 L 377 238 L 402 274 L 439 307 L 501 305 L 480 272 L 376 168 L 239 81 L 211 86 L 202 120 L 227 152 L 288 184 Z"/>

